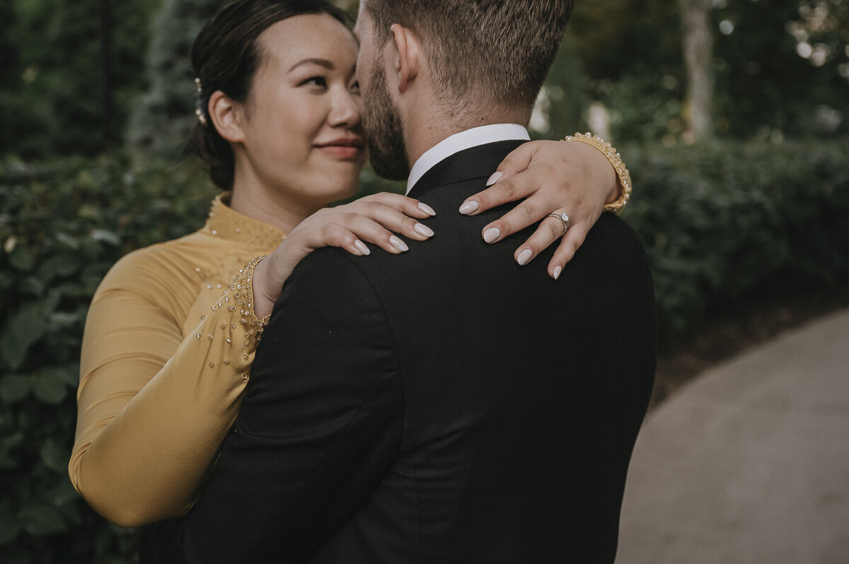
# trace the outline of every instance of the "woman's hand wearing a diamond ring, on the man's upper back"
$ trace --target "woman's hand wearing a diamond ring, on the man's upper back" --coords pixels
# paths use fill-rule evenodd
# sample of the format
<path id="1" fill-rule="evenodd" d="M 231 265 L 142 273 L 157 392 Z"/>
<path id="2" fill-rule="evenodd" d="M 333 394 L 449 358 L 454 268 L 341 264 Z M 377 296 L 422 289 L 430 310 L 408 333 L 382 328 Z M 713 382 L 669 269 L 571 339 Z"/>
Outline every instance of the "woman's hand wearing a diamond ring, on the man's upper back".
<path id="1" fill-rule="evenodd" d="M 526 265 L 560 240 L 548 263 L 548 274 L 555 279 L 599 220 L 604 204 L 616 201 L 619 195 L 616 170 L 598 149 L 582 142 L 526 142 L 503 160 L 488 185 L 491 187 L 466 199 L 460 213 L 477 215 L 526 198 L 484 227 L 483 238 L 486 243 L 496 243 L 542 220 L 514 256 L 516 262 Z M 565 235 L 563 222 L 547 217 L 564 213 L 570 218 Z"/>

